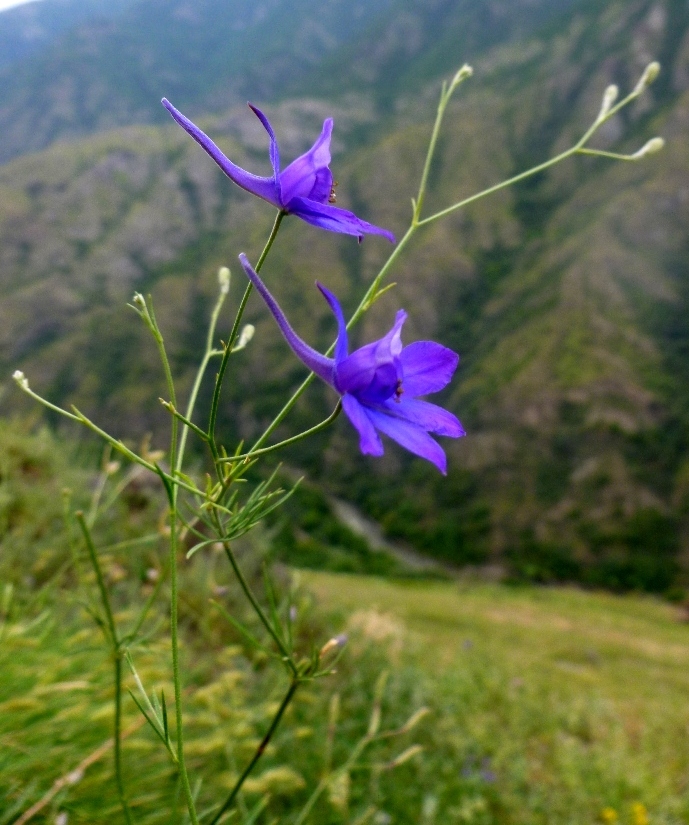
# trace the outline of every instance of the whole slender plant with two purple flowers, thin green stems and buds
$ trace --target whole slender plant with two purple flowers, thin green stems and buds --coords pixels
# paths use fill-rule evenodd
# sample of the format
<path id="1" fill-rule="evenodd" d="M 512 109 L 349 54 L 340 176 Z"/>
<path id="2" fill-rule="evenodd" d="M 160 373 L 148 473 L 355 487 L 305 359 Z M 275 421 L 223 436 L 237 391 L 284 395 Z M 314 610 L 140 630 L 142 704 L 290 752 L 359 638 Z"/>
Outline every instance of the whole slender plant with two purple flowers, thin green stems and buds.
<path id="1" fill-rule="evenodd" d="M 421 459 L 430 461 L 441 473 L 445 473 L 446 456 L 434 436 L 458 438 L 465 433 L 454 412 L 423 399 L 448 385 L 459 362 L 458 354 L 434 341 L 416 341 L 406 346 L 403 345 L 402 330 L 407 317 L 403 309 L 397 312 L 387 334 L 351 353 L 348 346 L 348 329 L 356 324 L 373 303 L 390 288 L 390 285 L 386 284 L 386 279 L 412 237 L 436 221 L 575 155 L 597 155 L 615 160 L 637 161 L 660 149 L 663 145 L 660 138 L 653 138 L 638 152 L 631 155 L 603 151 L 589 145 L 591 138 L 600 127 L 623 107 L 638 98 L 653 82 L 658 71 L 658 64 L 651 63 L 636 87 L 621 100 L 618 100 L 617 87 L 608 87 L 595 120 L 582 137 L 566 151 L 435 213 L 424 214 L 429 171 L 433 163 L 445 110 L 457 87 L 472 74 L 469 66 L 463 66 L 449 83 L 443 84 L 418 193 L 412 199 L 411 222 L 397 242 L 386 229 L 368 223 L 354 213 L 336 205 L 335 184 L 330 170 L 332 119 L 328 118 L 325 121 L 323 130 L 312 148 L 282 169 L 278 142 L 270 122 L 263 112 L 252 106 L 254 114 L 268 133 L 270 162 L 273 168 L 271 176 L 260 177 L 234 164 L 194 123 L 170 102 L 163 100 L 163 105 L 174 120 L 210 155 L 235 184 L 262 198 L 277 210 L 272 231 L 255 264 L 252 264 L 244 254 L 240 255 L 241 269 L 248 283 L 234 311 L 231 332 L 226 341 L 216 339 L 216 324 L 225 308 L 230 285 L 229 270 L 227 268 L 220 270 L 219 295 L 210 318 L 205 352 L 187 399 L 178 398 L 163 330 L 160 329 L 156 320 L 151 298 L 138 293 L 134 295 L 131 306 L 151 333 L 158 348 L 165 375 L 167 397 L 161 400 L 170 413 L 171 421 L 167 453 L 163 455 L 151 453 L 147 449 L 136 451 L 130 448 L 123 441 L 101 429 L 96 422 L 80 410 L 74 407 L 71 410 L 65 410 L 41 397 L 30 387 L 23 373 L 17 371 L 14 375 L 18 386 L 24 392 L 53 412 L 96 433 L 114 451 L 131 462 L 137 472 L 144 470 L 157 477 L 167 499 L 168 563 L 165 575 L 169 578 L 171 678 L 174 693 L 170 708 L 168 708 L 164 694 L 158 697 L 143 683 L 143 679 L 137 672 L 134 647 L 142 633 L 152 601 L 159 598 L 163 592 L 160 588 L 162 577 L 159 577 L 148 602 L 128 629 L 121 629 L 112 607 L 109 582 L 103 575 L 99 552 L 92 537 L 98 502 L 96 501 L 91 513 L 78 512 L 75 515 L 78 536 L 85 550 L 84 556 L 91 564 L 97 585 L 100 608 L 96 613 L 96 618 L 102 628 L 103 637 L 113 661 L 115 693 L 113 781 L 116 784 L 126 822 L 132 823 L 136 817 L 128 804 L 123 772 L 123 764 L 127 759 L 122 736 L 123 673 L 125 669 L 131 672 L 134 679 L 136 689 L 132 692 L 132 696 L 143 719 L 160 739 L 161 747 L 167 750 L 178 772 L 189 821 L 193 825 L 202 822 L 206 825 L 216 825 L 233 814 L 244 817 L 246 821 L 254 821 L 261 814 L 260 806 L 248 813 L 241 806 L 238 807 L 241 802 L 242 788 L 252 771 L 261 762 L 271 738 L 283 721 L 285 711 L 297 691 L 305 683 L 319 680 L 332 672 L 334 661 L 341 655 L 345 639 L 343 637 L 323 639 L 312 649 L 301 649 L 300 642 L 295 640 L 293 633 L 292 611 L 280 608 L 274 598 L 270 583 L 266 586 L 265 598 L 259 598 L 254 592 L 252 581 L 245 575 L 242 566 L 238 563 L 235 542 L 251 531 L 271 511 L 279 508 L 290 496 L 291 491 L 275 486 L 275 473 L 272 475 L 264 473 L 258 476 L 263 478 L 262 481 L 247 483 L 248 471 L 267 456 L 272 457 L 273 453 L 277 453 L 287 445 L 294 445 L 327 427 L 339 426 L 336 420 L 340 412 L 344 411 L 346 418 L 356 431 L 355 437 L 358 438 L 359 449 L 363 454 L 372 457 L 383 454 L 382 434 Z M 348 321 L 344 317 L 337 297 L 327 286 L 318 284 L 318 288 L 335 316 L 334 326 L 337 330 L 334 344 L 325 353 L 313 349 L 292 328 L 284 311 L 259 275 L 283 221 L 292 215 L 321 229 L 352 235 L 359 241 L 365 235 L 380 235 L 394 244 L 391 254 Z M 322 273 L 321 280 L 327 283 L 327 271 Z M 216 424 L 222 403 L 223 382 L 232 363 L 232 357 L 248 345 L 253 334 L 253 328 L 243 324 L 243 316 L 249 296 L 254 289 L 260 294 L 268 311 L 277 322 L 289 348 L 306 366 L 308 375 L 286 400 L 282 409 L 276 412 L 273 421 L 260 437 L 246 449 L 243 444 L 223 443 L 218 437 Z M 204 376 L 212 363 L 217 363 L 217 368 L 209 404 L 210 414 L 207 421 L 200 422 L 197 414 L 197 401 Z M 272 434 L 287 418 L 290 410 L 314 377 L 324 381 L 334 391 L 334 408 L 331 415 L 320 423 L 314 423 L 305 432 L 296 433 L 284 441 L 271 444 Z M 188 469 L 187 446 L 190 438 L 199 439 L 207 450 L 212 474 L 208 474 L 205 479 L 191 474 Z M 107 480 L 106 477 L 107 473 L 104 475 L 104 483 Z M 251 477 L 256 477 L 256 474 L 252 474 Z M 236 616 L 228 616 L 229 621 L 252 644 L 266 651 L 272 657 L 275 666 L 285 670 L 288 680 L 282 701 L 277 704 L 272 721 L 267 725 L 253 756 L 247 760 L 246 764 L 238 767 L 234 786 L 225 798 L 215 799 L 212 805 L 204 810 L 197 809 L 195 789 L 199 787 L 200 778 L 189 775 L 185 760 L 185 695 L 182 691 L 180 673 L 178 573 L 182 561 L 180 550 L 188 547 L 190 549 L 186 553 L 187 558 L 196 553 L 215 552 L 218 548 L 221 549 L 250 609 L 255 613 L 257 622 L 263 628 L 264 638 L 257 638 L 256 634 L 242 625 Z M 422 715 L 410 708 L 411 715 L 406 725 L 396 730 L 381 731 L 380 698 L 383 684 L 384 682 L 381 681 L 376 691 L 377 698 L 368 729 L 345 763 L 347 769 L 361 757 L 369 744 L 381 738 L 407 732 Z M 334 713 L 332 708 L 331 713 Z M 395 764 L 401 764 L 414 756 L 416 752 L 416 747 L 411 745 L 396 760 L 393 760 L 391 765 L 394 767 Z M 330 774 L 313 788 L 305 806 L 301 810 L 294 811 L 290 815 L 290 821 L 299 823 L 299 825 L 306 822 L 328 783 L 336 782 L 338 776 L 337 772 Z M 332 788 L 330 790 L 332 791 Z"/>

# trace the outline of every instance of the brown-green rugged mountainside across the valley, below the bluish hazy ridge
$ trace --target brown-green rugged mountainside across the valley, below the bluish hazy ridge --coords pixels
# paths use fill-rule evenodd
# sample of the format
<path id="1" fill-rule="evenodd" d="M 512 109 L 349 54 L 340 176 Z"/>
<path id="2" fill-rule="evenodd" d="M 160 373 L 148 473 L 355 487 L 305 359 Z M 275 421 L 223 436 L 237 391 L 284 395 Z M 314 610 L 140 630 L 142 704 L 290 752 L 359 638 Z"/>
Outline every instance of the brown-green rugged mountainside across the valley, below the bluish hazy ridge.
<path id="1" fill-rule="evenodd" d="M 497 14 L 500 5 L 474 7 Z M 476 74 L 448 110 L 427 208 L 566 148 L 605 87 L 630 89 L 653 58 L 661 77 L 597 145 L 633 151 L 662 134 L 666 149 L 638 164 L 570 161 L 425 230 L 397 266 L 397 286 L 357 337 L 379 334 L 403 306 L 405 341 L 434 338 L 461 353 L 443 403 L 469 436 L 446 444 L 446 479 L 394 445 L 383 459 L 360 457 L 344 420 L 288 461 L 425 552 L 498 561 L 516 576 L 667 591 L 689 570 L 689 8 L 573 2 L 544 21 L 546 4 L 527 5 L 533 28 L 497 45 L 472 41 Z M 426 6 L 440 14 L 450 4 Z M 322 54 L 314 66 L 327 72 L 304 69 L 312 94 L 274 92 L 266 106 L 285 159 L 334 115 L 338 203 L 398 234 L 446 68 L 445 52 L 400 45 L 409 40 L 401 14 L 390 13 L 389 28 L 377 21 L 372 40 L 342 46 L 341 63 L 337 49 Z M 386 51 L 387 32 L 397 46 Z M 455 57 L 457 65 L 464 56 Z M 391 77 L 399 84 L 385 87 L 394 90 L 386 98 L 381 84 Z M 243 106 L 220 111 L 223 100 L 232 103 L 216 98 L 218 111 L 201 125 L 234 160 L 266 171 L 260 127 Z M 212 112 L 208 101 L 195 108 Z M 164 428 L 154 346 L 125 303 L 134 289 L 152 292 L 189 383 L 217 267 L 232 267 L 238 296 L 236 256 L 255 260 L 270 208 L 237 190 L 174 125 L 131 126 L 18 158 L 0 167 L 0 193 L 6 374 L 24 369 L 39 391 L 117 435 Z M 383 239 L 358 246 L 290 219 L 264 274 L 295 328 L 325 346 L 334 326 L 314 279 L 353 308 L 388 252 Z M 245 438 L 303 375 L 258 300 L 250 320 L 257 334 L 233 365 L 222 421 Z M 25 409 L 9 382 L 2 403 Z M 332 403 L 312 387 L 283 432 L 312 425 Z"/>

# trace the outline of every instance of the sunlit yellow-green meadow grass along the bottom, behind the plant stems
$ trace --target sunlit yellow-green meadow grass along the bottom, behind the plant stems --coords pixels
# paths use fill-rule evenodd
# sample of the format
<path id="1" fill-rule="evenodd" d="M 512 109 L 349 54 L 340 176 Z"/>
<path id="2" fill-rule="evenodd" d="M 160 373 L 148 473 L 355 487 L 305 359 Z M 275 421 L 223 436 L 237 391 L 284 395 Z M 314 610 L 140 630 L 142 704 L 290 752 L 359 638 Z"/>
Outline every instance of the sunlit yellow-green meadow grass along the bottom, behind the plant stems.
<path id="1" fill-rule="evenodd" d="M 209 804 L 231 787 L 285 689 L 263 654 L 193 606 L 213 565 L 209 557 L 186 571 L 184 623 L 188 755 Z M 283 587 L 304 645 L 342 630 L 350 642 L 338 673 L 298 694 L 243 794 L 244 821 L 689 822 L 689 626 L 677 607 L 566 588 L 290 576 Z M 0 823 L 123 821 L 108 748 L 112 667 L 98 627 L 58 591 L 40 606 L 8 607 Z M 117 613 L 123 626 L 131 620 Z M 146 686 L 169 696 L 164 624 L 161 610 L 132 655 Z M 347 764 L 381 673 L 381 729 L 430 712 Z M 127 687 L 136 692 L 131 677 Z M 128 696 L 124 729 L 136 821 L 184 822 L 169 814 L 181 803 L 175 771 Z"/>

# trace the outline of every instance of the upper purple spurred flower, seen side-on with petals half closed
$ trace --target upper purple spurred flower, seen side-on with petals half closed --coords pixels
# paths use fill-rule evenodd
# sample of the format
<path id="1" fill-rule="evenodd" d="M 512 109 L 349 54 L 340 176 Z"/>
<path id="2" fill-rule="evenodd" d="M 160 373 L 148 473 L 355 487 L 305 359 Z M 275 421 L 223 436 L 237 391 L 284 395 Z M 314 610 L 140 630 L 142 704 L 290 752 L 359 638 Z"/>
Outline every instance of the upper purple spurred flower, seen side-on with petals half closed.
<path id="1" fill-rule="evenodd" d="M 361 240 L 362 235 L 384 235 L 394 243 L 395 237 L 387 229 L 373 226 L 362 221 L 353 212 L 339 209 L 332 204 L 335 201 L 333 174 L 328 168 L 330 163 L 330 136 L 333 131 L 333 119 L 329 117 L 323 123 L 323 131 L 309 151 L 292 161 L 284 170 L 280 171 L 280 150 L 273 127 L 268 118 L 256 106 L 251 107 L 256 117 L 263 124 L 270 137 L 270 162 L 273 166 L 273 175 L 262 178 L 252 175 L 225 157 L 213 141 L 195 126 L 188 118 L 179 112 L 163 98 L 163 106 L 170 112 L 179 125 L 205 149 L 230 180 L 237 186 L 258 195 L 259 198 L 272 203 L 278 209 L 291 215 L 296 215 L 306 223 L 329 229 L 331 232 L 341 232 L 345 235 L 356 235 Z"/>

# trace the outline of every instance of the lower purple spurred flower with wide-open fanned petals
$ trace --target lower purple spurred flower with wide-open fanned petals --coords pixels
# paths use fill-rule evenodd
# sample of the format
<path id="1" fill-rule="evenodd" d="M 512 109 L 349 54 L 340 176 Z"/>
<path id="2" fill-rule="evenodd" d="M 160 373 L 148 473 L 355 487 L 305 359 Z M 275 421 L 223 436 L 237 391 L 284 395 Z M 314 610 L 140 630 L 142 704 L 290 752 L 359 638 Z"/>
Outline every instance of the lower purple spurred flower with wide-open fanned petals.
<path id="1" fill-rule="evenodd" d="M 337 319 L 335 357 L 312 349 L 289 325 L 275 298 L 240 255 L 244 271 L 261 293 L 294 354 L 342 397 L 342 408 L 359 433 L 359 447 L 365 455 L 382 455 L 378 432 L 389 436 L 414 455 L 447 471 L 442 447 L 429 433 L 459 438 L 464 429 L 457 418 L 442 407 L 421 401 L 447 386 L 459 363 L 459 356 L 434 341 L 416 341 L 402 346 L 401 334 L 407 313 L 401 309 L 383 338 L 348 354 L 347 327 L 337 298 L 317 284 Z"/>

